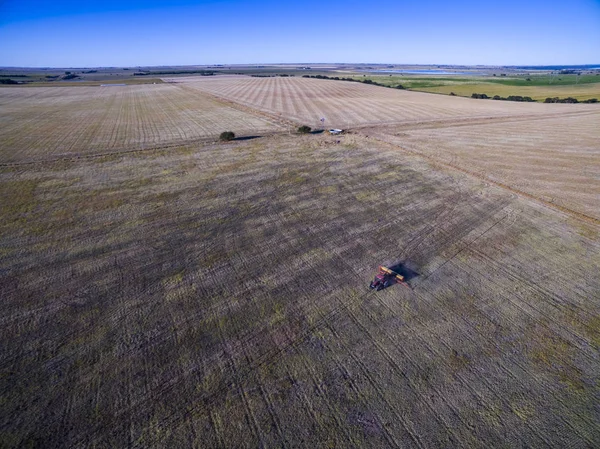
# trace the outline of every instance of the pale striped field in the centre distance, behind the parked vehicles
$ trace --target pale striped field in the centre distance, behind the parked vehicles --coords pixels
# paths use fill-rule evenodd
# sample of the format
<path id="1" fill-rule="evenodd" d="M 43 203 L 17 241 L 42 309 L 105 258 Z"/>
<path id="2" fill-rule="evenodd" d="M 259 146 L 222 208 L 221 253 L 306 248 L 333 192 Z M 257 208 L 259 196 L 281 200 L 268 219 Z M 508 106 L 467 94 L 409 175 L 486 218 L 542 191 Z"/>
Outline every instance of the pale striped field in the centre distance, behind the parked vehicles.
<path id="1" fill-rule="evenodd" d="M 245 76 L 165 79 L 311 127 L 348 128 L 449 119 L 557 115 L 595 105 L 548 105 L 449 97 L 334 80 Z"/>

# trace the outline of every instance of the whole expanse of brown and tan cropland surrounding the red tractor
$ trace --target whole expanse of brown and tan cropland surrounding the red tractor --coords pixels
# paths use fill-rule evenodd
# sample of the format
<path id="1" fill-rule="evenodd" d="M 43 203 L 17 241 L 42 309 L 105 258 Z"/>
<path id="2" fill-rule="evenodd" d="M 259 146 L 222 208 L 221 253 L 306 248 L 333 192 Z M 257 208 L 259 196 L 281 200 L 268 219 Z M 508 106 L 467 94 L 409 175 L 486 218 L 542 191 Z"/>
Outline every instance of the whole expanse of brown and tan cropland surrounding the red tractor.
<path id="1" fill-rule="evenodd" d="M 0 89 L 1 446 L 600 447 L 600 107 L 177 81 Z"/>

